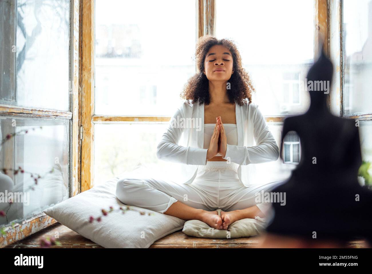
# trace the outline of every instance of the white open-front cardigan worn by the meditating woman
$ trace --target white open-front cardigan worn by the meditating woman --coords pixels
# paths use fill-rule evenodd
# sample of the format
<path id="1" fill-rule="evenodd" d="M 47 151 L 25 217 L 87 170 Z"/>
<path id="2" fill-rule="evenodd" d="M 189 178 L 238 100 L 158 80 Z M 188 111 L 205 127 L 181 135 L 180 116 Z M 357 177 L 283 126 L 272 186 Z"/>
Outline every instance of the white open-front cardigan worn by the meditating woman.
<path id="1" fill-rule="evenodd" d="M 248 187 L 257 184 L 254 164 L 277 160 L 279 148 L 258 105 L 247 102 L 239 106 L 235 102 L 235 115 L 238 145 L 227 144 L 224 159 L 239 164 L 239 179 Z M 206 165 L 207 149 L 203 149 L 203 143 L 204 104 L 199 106 L 199 100 L 194 104 L 191 100 L 184 101 L 171 117 L 157 146 L 158 159 L 177 163 L 171 167 L 172 171 L 177 169 L 173 172 L 174 182 L 191 184 L 198 165 Z"/>

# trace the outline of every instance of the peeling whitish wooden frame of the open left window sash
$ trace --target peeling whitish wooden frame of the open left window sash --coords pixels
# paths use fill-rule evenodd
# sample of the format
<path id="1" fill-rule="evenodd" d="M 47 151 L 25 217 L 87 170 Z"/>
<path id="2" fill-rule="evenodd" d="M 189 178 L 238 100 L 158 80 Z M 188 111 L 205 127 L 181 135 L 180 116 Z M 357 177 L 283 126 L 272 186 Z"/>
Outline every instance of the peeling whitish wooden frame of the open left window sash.
<path id="1" fill-rule="evenodd" d="M 70 122 L 70 140 L 69 140 L 69 196 L 73 197 L 80 193 L 80 137 L 79 125 L 81 124 L 81 89 L 80 86 L 80 4 L 82 0 L 70 0 L 70 43 L 69 43 L 69 111 L 58 111 L 47 108 L 33 108 L 23 106 L 13 106 L 0 104 L 0 115 L 15 118 L 49 118 L 71 120 Z M 81 40 L 80 40 L 81 41 Z M 79 99 L 80 98 L 80 99 Z M 12 226 L 4 227 L 6 235 L 0 235 L 0 248 L 10 243 L 26 238 L 27 236 L 38 232 L 51 224 L 57 223 L 57 220 L 40 213 L 32 218 L 15 223 Z"/>

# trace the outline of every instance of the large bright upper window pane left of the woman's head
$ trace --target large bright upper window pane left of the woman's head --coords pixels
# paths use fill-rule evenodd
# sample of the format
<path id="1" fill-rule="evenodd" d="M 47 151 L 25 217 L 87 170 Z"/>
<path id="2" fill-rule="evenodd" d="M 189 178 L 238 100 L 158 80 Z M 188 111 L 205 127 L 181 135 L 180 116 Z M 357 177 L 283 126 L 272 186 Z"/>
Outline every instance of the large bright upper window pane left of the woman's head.
<path id="1" fill-rule="evenodd" d="M 96 0 L 95 13 L 95 114 L 171 115 L 196 72 L 195 1 Z"/>

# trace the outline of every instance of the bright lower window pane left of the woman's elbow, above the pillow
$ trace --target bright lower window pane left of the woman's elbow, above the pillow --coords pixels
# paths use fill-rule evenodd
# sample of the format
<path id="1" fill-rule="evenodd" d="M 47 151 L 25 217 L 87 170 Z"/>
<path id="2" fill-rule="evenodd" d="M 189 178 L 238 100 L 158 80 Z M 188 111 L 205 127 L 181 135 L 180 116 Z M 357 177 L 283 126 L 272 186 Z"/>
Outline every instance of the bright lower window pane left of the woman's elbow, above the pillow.
<path id="1" fill-rule="evenodd" d="M 156 156 L 168 124 L 94 125 L 94 185 L 131 171 L 142 162 L 148 168 L 166 167 Z"/>

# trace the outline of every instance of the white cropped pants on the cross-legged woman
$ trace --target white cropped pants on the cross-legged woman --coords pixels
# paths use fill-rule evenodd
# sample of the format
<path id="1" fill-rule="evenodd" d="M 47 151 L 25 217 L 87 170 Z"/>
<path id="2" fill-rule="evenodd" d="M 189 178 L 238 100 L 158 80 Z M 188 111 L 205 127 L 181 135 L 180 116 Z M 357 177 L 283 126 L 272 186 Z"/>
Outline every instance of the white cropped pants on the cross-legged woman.
<path id="1" fill-rule="evenodd" d="M 209 161 L 199 166 L 191 184 L 177 184 L 160 178 L 141 176 L 120 178 L 116 197 L 127 206 L 137 206 L 163 213 L 176 201 L 190 207 L 213 211 L 232 211 L 256 205 L 267 217 L 272 216 L 271 203 L 257 203 L 256 192 L 270 191 L 279 182 L 246 187 L 239 180 L 239 165 L 226 161 Z"/>

